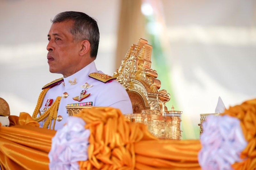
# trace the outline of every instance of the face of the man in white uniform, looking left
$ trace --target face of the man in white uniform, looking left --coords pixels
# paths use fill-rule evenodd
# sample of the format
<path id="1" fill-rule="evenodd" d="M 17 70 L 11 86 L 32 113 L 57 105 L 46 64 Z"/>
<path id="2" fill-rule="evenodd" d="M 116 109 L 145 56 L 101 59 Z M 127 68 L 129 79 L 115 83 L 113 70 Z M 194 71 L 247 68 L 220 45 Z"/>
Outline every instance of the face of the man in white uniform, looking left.
<path id="1" fill-rule="evenodd" d="M 53 23 L 48 33 L 47 59 L 51 73 L 60 73 L 64 77 L 76 72 L 80 62 L 80 41 L 75 41 L 69 32 L 74 21 Z"/>

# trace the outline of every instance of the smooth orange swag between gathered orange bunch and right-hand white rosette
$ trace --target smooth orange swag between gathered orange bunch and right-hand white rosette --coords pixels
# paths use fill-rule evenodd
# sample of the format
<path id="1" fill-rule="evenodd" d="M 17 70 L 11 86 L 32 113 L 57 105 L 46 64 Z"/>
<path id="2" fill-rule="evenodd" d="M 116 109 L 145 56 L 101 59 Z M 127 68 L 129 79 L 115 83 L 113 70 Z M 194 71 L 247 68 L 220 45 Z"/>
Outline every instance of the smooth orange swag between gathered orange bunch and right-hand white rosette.
<path id="1" fill-rule="evenodd" d="M 135 144 L 136 162 L 151 167 L 199 169 L 200 149 L 199 140 L 140 141 Z"/>

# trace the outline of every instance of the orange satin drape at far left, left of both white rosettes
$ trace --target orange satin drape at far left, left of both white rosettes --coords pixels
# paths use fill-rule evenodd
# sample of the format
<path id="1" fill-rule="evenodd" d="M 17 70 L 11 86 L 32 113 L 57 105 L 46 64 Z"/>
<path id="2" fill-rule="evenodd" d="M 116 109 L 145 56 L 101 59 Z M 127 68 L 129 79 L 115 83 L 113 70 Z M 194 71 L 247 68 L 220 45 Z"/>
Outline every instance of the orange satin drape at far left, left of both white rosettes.
<path id="1" fill-rule="evenodd" d="M 0 165 L 4 169 L 48 169 L 56 131 L 39 128 L 27 113 L 10 116 L 14 126 L 0 127 Z"/>

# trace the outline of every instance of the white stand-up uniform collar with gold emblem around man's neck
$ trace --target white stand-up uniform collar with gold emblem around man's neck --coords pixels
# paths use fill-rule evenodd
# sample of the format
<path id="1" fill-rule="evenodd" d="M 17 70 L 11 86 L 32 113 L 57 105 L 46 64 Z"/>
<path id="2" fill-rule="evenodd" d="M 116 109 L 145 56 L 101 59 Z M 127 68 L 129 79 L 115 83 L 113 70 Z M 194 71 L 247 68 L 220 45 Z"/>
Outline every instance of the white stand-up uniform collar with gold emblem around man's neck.
<path id="1" fill-rule="evenodd" d="M 92 61 L 90 64 L 79 70 L 77 73 L 63 78 L 65 83 L 65 89 L 68 90 L 86 83 L 86 81 L 90 78 L 88 75 L 94 72 L 98 72 L 98 70 L 95 66 L 94 61 Z M 76 81 L 76 83 L 74 83 L 74 80 Z M 73 85 L 72 83 L 70 83 L 71 81 L 73 82 Z"/>

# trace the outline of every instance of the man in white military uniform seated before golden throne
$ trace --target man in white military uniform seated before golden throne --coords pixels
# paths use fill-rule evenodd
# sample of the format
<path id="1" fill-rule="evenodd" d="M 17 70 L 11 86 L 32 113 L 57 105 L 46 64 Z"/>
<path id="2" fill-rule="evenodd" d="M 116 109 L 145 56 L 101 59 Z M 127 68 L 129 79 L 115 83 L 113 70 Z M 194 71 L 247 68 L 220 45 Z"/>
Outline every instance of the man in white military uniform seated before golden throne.
<path id="1" fill-rule="evenodd" d="M 129 96 L 113 77 L 96 69 L 99 45 L 97 22 L 82 12 L 61 12 L 48 33 L 49 71 L 63 78 L 42 89 L 33 118 L 41 126 L 58 130 L 66 122 L 66 106 L 115 107 L 132 113 Z M 56 121 L 57 120 L 57 121 Z"/>

